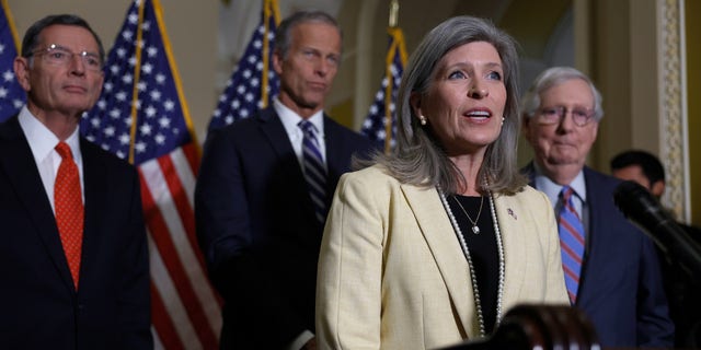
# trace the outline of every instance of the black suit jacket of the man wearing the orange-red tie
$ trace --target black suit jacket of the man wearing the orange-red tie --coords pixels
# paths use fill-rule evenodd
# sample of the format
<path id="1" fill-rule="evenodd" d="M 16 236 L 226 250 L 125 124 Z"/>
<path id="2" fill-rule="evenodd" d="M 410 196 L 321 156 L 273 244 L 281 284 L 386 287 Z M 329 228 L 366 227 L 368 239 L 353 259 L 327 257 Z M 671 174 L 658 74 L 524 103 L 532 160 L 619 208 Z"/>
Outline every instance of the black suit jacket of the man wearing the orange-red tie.
<path id="1" fill-rule="evenodd" d="M 0 125 L 0 348 L 150 349 L 148 247 L 134 166 L 84 139 L 84 230 L 74 291 L 18 118 Z"/>

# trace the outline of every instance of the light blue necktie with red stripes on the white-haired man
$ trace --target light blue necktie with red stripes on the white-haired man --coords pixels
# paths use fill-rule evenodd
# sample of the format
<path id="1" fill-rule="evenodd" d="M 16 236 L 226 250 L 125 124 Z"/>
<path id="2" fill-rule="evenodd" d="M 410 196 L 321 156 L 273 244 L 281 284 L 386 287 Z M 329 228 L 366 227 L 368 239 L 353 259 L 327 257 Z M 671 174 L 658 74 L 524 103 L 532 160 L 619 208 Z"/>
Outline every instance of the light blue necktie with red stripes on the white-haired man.
<path id="1" fill-rule="evenodd" d="M 570 186 L 563 186 L 560 192 L 561 206 L 558 218 L 558 231 L 560 232 L 560 248 L 562 253 L 562 268 L 565 272 L 565 287 L 570 294 L 570 302 L 574 305 L 577 300 L 579 285 L 579 272 L 582 270 L 582 257 L 584 256 L 584 226 L 574 209 L 574 190 Z"/>

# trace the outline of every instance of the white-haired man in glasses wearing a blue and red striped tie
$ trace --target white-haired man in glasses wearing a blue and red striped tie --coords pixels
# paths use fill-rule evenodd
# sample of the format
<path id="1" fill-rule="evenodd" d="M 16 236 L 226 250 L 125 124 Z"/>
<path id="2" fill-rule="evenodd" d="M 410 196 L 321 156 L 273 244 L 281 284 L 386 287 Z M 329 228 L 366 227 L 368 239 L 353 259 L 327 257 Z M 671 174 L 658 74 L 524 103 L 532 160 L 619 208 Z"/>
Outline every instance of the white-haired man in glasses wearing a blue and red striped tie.
<path id="1" fill-rule="evenodd" d="M 600 93 L 576 69 L 550 68 L 521 110 L 535 151 L 524 172 L 553 203 L 572 305 L 589 316 L 604 347 L 673 347 L 654 245 L 614 207 L 620 180 L 585 165 L 604 116 Z"/>

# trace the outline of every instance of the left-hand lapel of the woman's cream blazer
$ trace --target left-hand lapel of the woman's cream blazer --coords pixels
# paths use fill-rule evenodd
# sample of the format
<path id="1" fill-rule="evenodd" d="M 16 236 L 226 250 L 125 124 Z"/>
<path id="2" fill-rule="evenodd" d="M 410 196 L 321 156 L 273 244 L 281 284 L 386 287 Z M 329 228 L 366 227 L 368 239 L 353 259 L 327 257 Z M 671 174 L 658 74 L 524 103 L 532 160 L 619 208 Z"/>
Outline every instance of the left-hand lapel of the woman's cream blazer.
<path id="1" fill-rule="evenodd" d="M 438 192 L 435 188 L 425 189 L 411 185 L 402 185 L 402 191 L 440 270 L 463 329 L 469 338 L 478 336 L 476 317 L 471 317 L 475 312 L 468 262 Z"/>

